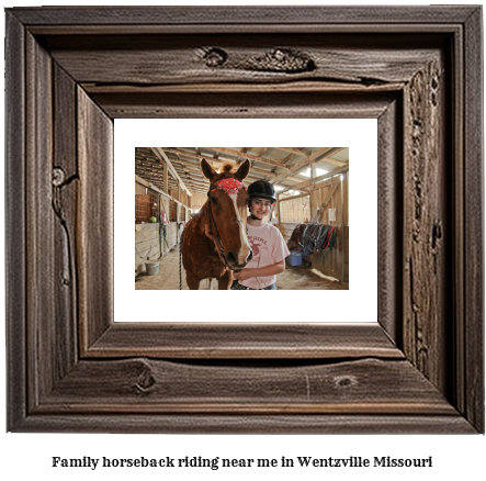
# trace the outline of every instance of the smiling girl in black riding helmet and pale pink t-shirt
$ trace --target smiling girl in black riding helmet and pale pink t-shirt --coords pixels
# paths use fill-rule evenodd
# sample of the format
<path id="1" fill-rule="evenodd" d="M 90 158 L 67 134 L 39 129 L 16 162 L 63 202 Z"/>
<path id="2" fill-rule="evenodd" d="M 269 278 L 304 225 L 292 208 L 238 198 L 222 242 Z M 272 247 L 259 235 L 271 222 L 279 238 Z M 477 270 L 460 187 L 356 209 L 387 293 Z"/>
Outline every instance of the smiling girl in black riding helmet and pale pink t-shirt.
<path id="1" fill-rule="evenodd" d="M 247 267 L 233 276 L 237 280 L 231 289 L 276 290 L 276 275 L 285 270 L 289 248 L 280 231 L 263 221 L 276 202 L 275 189 L 265 180 L 248 186 L 248 240 L 253 257 Z"/>

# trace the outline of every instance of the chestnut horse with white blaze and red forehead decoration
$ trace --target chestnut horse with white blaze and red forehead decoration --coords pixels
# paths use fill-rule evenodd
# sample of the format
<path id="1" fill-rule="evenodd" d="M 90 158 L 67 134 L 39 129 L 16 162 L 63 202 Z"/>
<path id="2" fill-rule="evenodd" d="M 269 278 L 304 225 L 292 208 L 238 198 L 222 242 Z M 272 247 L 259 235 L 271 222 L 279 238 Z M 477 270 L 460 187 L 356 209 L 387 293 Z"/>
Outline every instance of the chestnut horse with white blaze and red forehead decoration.
<path id="1" fill-rule="evenodd" d="M 236 172 L 230 165 L 216 172 L 203 158 L 201 170 L 211 187 L 207 201 L 188 222 L 182 234 L 185 280 L 189 289 L 199 290 L 203 279 L 215 278 L 218 290 L 229 290 L 231 270 L 244 269 L 253 256 L 246 228 L 248 194 L 242 186 L 250 171 L 250 161 L 245 160 Z"/>

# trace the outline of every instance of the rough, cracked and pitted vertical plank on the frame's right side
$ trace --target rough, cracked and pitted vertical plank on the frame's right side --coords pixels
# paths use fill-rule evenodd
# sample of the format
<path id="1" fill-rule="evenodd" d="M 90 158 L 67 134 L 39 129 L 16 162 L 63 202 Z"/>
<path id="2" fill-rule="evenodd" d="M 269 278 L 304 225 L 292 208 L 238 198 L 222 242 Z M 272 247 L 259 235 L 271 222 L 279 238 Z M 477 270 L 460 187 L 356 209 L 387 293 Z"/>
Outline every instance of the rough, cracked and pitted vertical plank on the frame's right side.
<path id="1" fill-rule="evenodd" d="M 448 305 L 445 232 L 450 217 L 443 142 L 443 65 L 432 59 L 405 89 L 404 125 L 404 349 L 445 390 Z M 441 188 L 442 187 L 442 188 Z M 450 340 L 449 340 L 450 343 Z"/>

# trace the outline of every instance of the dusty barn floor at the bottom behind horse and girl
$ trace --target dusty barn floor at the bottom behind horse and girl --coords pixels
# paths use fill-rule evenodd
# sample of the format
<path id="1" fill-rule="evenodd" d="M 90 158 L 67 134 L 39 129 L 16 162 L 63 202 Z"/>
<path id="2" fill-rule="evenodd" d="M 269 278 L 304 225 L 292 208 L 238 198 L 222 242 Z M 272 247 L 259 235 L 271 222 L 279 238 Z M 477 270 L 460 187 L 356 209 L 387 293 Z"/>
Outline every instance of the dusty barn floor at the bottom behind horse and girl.
<path id="1" fill-rule="evenodd" d="M 182 262 L 181 262 L 182 264 Z M 182 269 L 182 290 L 188 290 L 185 271 Z M 159 273 L 148 276 L 142 273 L 135 278 L 136 290 L 179 290 L 179 247 L 174 247 L 166 257 L 159 259 Z M 210 289 L 208 280 L 201 282 L 201 290 Z M 217 290 L 217 281 L 213 280 L 213 289 Z M 285 271 L 276 276 L 278 290 L 348 290 L 348 282 L 336 282 L 321 278 L 310 267 L 286 266 Z"/>

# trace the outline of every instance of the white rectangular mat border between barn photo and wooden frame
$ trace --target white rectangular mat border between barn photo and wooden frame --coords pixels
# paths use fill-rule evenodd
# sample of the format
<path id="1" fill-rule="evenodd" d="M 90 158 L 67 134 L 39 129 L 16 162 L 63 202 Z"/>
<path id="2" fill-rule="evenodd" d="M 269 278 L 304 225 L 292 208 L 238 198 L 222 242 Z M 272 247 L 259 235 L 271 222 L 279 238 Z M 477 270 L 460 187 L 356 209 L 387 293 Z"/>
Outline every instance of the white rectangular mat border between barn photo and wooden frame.
<path id="1" fill-rule="evenodd" d="M 134 193 L 135 147 L 204 147 L 222 142 L 226 147 L 349 147 L 349 291 L 135 291 L 135 205 L 129 195 Z M 376 322 L 376 145 L 375 119 L 115 120 L 115 322 L 251 322 L 256 311 L 265 322 Z M 364 239 L 359 233 L 374 235 Z M 207 302 L 217 302 L 230 317 L 215 318 L 214 312 L 201 310 Z M 250 311 L 231 309 L 240 302 L 251 304 Z M 168 316 L 174 304 L 183 309 L 177 316 Z M 316 311 L 303 318 L 303 305 L 319 306 L 320 314 Z"/>

